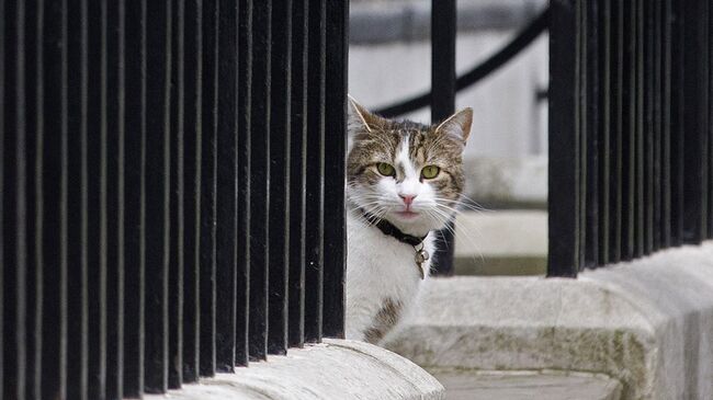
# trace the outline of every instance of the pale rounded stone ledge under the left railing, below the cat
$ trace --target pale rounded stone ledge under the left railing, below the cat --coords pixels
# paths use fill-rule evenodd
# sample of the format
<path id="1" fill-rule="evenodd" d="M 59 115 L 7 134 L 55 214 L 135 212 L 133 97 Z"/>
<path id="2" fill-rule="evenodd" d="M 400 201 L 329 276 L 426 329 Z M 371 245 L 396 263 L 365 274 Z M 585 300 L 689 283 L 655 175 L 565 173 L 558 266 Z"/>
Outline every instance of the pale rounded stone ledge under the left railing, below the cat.
<path id="1" fill-rule="evenodd" d="M 335 399 L 444 399 L 443 386 L 426 370 L 387 350 L 362 342 L 327 339 L 321 344 L 291 348 L 286 356 L 270 357 L 217 374 L 201 384 L 185 385 L 168 396 L 146 400 L 335 400 Z"/>

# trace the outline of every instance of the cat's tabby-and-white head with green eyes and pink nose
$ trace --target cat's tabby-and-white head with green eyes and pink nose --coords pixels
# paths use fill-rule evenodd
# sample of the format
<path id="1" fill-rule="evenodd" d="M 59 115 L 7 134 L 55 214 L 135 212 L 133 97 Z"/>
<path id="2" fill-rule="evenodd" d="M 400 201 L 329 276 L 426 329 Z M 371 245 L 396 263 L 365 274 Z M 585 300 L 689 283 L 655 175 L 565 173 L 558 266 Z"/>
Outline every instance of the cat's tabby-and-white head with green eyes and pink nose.
<path id="1" fill-rule="evenodd" d="M 351 204 L 406 233 L 443 228 L 463 192 L 462 153 L 473 111 L 429 126 L 383 118 L 351 98 L 349 103 Z"/>

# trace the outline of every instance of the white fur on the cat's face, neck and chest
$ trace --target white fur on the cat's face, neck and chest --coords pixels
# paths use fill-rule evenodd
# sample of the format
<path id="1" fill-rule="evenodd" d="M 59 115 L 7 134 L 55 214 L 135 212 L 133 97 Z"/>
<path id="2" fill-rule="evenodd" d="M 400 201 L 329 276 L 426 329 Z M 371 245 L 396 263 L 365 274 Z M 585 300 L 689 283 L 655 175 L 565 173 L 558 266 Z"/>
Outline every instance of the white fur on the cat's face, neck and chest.
<path id="1" fill-rule="evenodd" d="M 421 168 L 408 157 L 408 140 L 403 140 L 393 163 L 403 175 L 397 179 L 384 176 L 375 187 L 349 186 L 347 190 L 351 209 L 347 217 L 347 339 L 364 340 L 378 311 L 389 299 L 401 305 L 401 319 L 417 301 L 421 286 L 428 278 L 431 261 L 422 264 L 421 279 L 415 260 L 414 247 L 384 235 L 367 225 L 358 206 L 384 218 L 401 231 L 425 236 L 441 228 L 441 218 L 428 214 L 435 206 L 431 185 L 419 180 Z M 400 174 L 400 172 L 399 172 Z M 420 213 L 416 218 L 403 218 L 397 213 L 406 206 L 400 195 L 416 196 L 411 210 Z M 433 254 L 433 235 L 428 233 L 423 248 Z"/>

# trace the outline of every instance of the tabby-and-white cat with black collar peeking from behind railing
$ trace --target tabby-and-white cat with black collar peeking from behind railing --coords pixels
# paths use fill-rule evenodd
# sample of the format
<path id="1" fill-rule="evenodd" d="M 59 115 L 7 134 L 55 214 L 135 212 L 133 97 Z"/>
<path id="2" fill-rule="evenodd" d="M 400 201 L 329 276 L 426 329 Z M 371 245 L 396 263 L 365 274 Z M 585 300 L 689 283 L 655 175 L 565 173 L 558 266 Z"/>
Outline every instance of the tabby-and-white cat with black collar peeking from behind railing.
<path id="1" fill-rule="evenodd" d="M 417 301 L 434 231 L 463 192 L 473 111 L 438 125 L 392 121 L 349 98 L 347 339 L 383 343 Z"/>

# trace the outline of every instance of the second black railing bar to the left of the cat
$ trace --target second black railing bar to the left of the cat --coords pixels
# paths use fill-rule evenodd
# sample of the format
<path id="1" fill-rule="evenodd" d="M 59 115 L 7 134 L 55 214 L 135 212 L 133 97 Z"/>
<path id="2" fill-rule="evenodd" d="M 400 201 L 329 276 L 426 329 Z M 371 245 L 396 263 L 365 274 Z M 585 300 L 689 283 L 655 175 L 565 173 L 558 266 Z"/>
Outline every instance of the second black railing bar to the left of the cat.
<path id="1" fill-rule="evenodd" d="M 307 185 L 305 230 L 305 341 L 321 341 L 324 279 L 324 145 L 326 1 L 309 2 Z"/>

